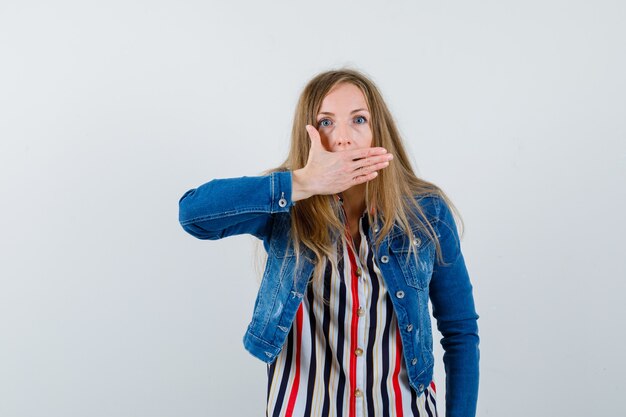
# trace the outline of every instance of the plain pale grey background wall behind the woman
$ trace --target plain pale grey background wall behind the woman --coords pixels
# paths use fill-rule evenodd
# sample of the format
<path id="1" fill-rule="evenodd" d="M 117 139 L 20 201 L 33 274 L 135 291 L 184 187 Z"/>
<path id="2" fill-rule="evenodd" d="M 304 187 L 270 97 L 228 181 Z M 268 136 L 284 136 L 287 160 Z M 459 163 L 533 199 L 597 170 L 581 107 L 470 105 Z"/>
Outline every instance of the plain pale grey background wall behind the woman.
<path id="1" fill-rule="evenodd" d="M 617 0 L 0 2 L 0 415 L 264 415 L 241 343 L 257 244 L 194 239 L 178 199 L 282 162 L 302 87 L 341 66 L 465 220 L 478 415 L 625 415 L 625 20 Z"/>

